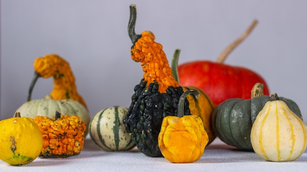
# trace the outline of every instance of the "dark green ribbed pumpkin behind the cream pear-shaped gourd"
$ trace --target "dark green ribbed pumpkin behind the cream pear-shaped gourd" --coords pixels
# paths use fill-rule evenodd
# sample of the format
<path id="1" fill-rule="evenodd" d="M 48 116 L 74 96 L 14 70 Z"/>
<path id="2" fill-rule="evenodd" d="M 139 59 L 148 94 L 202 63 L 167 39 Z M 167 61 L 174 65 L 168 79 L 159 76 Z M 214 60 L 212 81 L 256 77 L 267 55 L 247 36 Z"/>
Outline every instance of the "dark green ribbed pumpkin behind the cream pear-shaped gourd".
<path id="1" fill-rule="evenodd" d="M 251 99 L 228 99 L 214 110 L 212 116 L 213 129 L 221 141 L 242 150 L 253 151 L 250 137 L 252 126 L 258 113 L 270 101 L 270 96 L 265 96 L 261 94 L 261 90 L 255 89 L 262 86 L 257 84 L 252 90 Z M 303 120 L 300 108 L 294 101 L 283 97 L 280 97 L 280 100 Z"/>

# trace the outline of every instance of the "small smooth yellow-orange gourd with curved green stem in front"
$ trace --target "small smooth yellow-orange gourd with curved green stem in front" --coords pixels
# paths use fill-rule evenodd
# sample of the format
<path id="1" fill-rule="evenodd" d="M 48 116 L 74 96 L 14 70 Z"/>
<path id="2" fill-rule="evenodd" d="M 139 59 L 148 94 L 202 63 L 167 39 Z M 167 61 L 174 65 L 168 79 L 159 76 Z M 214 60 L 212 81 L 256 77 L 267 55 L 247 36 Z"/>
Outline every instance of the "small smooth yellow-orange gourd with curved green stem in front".
<path id="1" fill-rule="evenodd" d="M 162 155 L 173 163 L 197 161 L 202 157 L 209 141 L 199 116 L 183 116 L 184 99 L 190 93 L 199 96 L 196 90 L 185 91 L 179 100 L 179 116 L 164 117 L 158 136 L 158 146 Z"/>

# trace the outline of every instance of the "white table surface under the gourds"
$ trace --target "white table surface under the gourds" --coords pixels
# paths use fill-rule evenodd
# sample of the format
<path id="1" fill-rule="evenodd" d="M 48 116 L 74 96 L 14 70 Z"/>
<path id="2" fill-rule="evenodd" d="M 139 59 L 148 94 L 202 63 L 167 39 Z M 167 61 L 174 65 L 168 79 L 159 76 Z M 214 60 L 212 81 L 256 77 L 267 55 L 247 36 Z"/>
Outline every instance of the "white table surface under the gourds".
<path id="1" fill-rule="evenodd" d="M 174 164 L 164 157 L 148 157 L 136 148 L 103 151 L 87 135 L 84 149 L 69 158 L 36 158 L 24 166 L 0 161 L 0 172 L 307 172 L 307 151 L 291 162 L 269 162 L 255 152 L 240 151 L 216 138 L 201 159 Z"/>

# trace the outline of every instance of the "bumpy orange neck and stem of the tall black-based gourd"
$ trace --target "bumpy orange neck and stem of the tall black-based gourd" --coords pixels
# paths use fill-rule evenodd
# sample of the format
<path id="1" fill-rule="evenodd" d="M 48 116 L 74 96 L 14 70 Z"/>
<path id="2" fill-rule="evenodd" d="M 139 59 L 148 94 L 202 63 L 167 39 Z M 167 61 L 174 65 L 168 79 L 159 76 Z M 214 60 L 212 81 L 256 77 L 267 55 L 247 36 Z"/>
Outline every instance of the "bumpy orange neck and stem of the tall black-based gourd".
<path id="1" fill-rule="evenodd" d="M 135 62 L 141 62 L 144 82 L 147 86 L 150 83 L 158 83 L 159 92 L 166 92 L 167 87 L 178 87 L 179 84 L 172 74 L 172 68 L 169 66 L 168 60 L 162 45 L 154 42 L 154 35 L 151 31 L 145 31 L 141 35 L 134 33 L 136 19 L 135 5 L 130 5 L 130 20 L 128 24 L 128 33 L 134 46 L 131 48 L 131 58 Z"/>

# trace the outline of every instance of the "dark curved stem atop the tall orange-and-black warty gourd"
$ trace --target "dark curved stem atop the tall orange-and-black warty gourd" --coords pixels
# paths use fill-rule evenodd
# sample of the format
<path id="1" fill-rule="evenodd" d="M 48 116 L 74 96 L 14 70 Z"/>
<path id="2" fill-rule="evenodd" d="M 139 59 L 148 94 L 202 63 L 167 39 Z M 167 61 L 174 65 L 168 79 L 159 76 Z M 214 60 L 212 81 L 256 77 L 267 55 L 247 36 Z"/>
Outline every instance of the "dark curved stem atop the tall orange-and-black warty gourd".
<path id="1" fill-rule="evenodd" d="M 142 35 L 135 34 L 135 22 L 136 22 L 136 6 L 135 4 L 130 5 L 130 19 L 128 23 L 128 35 L 131 42 L 134 44 Z"/>

